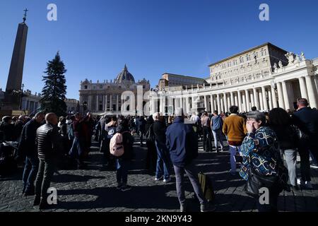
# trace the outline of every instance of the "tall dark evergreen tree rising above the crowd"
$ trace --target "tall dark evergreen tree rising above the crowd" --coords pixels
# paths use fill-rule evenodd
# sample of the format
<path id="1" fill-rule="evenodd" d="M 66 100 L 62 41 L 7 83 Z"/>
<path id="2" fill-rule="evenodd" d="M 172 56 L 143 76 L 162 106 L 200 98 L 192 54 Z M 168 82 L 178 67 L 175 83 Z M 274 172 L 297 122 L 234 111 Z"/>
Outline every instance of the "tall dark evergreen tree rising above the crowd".
<path id="1" fill-rule="evenodd" d="M 54 112 L 58 117 L 66 115 L 66 73 L 65 65 L 61 61 L 59 52 L 52 61 L 47 63 L 47 69 L 43 76 L 45 87 L 42 89 L 42 99 L 40 100 L 42 112 Z"/>

